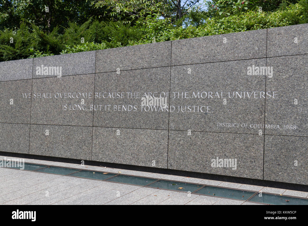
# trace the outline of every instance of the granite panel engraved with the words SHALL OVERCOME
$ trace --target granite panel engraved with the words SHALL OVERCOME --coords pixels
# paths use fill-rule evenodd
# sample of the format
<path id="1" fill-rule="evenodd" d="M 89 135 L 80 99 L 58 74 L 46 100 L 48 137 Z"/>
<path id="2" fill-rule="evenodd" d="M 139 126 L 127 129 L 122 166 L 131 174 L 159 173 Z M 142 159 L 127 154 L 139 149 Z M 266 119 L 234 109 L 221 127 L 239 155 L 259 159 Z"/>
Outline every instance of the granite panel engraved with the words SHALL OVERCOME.
<path id="1" fill-rule="evenodd" d="M 34 79 L 31 123 L 92 126 L 93 103 L 94 74 Z"/>

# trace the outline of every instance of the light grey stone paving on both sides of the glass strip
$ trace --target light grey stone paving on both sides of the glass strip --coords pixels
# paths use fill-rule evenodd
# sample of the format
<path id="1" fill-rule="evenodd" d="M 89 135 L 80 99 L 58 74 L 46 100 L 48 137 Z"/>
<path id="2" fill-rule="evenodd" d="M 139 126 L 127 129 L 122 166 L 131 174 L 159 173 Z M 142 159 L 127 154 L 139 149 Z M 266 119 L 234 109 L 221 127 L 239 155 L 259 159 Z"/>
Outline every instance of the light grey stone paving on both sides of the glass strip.
<path id="1" fill-rule="evenodd" d="M 17 158 L 5 157 L 3 158 Z M 268 188 L 248 184 L 229 183 L 217 180 L 204 180 L 184 176 L 174 176 L 125 169 L 104 168 L 99 166 L 70 164 L 63 162 L 24 159 L 25 162 L 48 164 L 61 167 L 123 173 L 133 176 L 146 176 L 157 179 L 177 180 L 199 184 L 216 185 L 228 188 L 270 192 L 274 194 L 307 197 L 308 192 L 279 188 Z M 252 205 L 227 198 L 200 196 L 186 192 L 176 192 L 136 185 L 119 184 L 107 181 L 75 178 L 41 172 L 30 172 L 10 168 L 0 168 L 0 204 L 185 204 L 185 205 Z"/>

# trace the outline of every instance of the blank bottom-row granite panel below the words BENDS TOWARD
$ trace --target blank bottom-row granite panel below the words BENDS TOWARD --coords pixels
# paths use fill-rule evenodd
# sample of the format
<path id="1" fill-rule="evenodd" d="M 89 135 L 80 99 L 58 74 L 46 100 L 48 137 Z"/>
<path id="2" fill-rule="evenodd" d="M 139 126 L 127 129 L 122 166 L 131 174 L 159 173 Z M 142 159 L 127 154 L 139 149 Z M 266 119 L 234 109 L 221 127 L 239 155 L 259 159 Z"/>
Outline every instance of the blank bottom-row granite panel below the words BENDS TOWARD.
<path id="1" fill-rule="evenodd" d="M 94 127 L 92 160 L 167 168 L 167 146 L 168 130 Z"/>

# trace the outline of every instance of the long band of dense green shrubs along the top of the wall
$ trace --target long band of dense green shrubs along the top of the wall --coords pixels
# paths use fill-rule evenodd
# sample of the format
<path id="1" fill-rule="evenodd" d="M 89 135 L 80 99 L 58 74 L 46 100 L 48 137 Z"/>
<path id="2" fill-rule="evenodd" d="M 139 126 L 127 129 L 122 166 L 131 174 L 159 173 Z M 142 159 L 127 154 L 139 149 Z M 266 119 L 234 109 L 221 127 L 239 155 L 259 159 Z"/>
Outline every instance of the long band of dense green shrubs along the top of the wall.
<path id="1" fill-rule="evenodd" d="M 264 2 L 264 1 L 261 1 Z M 234 2 L 233 2 L 234 3 Z M 288 26 L 308 22 L 307 0 L 297 3 L 282 1 L 268 11 L 259 11 L 255 6 L 237 8 L 232 1 L 213 1 L 213 7 L 201 11 L 198 8 L 174 21 L 161 19 L 159 15 L 148 13 L 146 17 L 134 21 L 101 21 L 92 17 L 82 23 L 67 22 L 67 27 L 54 26 L 44 31 L 35 24 L 21 22 L 18 29 L 0 31 L 0 61 L 41 57 L 56 54 L 138 45 L 151 42 L 225 34 L 247 30 Z M 247 2 L 246 2 L 247 3 Z M 245 5 L 251 6 L 248 3 Z M 279 3 L 279 1 L 278 1 Z M 278 4 L 277 3 L 277 4 Z M 229 5 L 235 5 L 235 8 Z M 244 5 L 244 4 L 241 4 Z M 229 8 L 228 8 L 229 7 Z M 247 8 L 247 9 L 245 9 Z M 232 10 L 233 9 L 233 10 Z M 215 11 L 216 10 L 216 11 Z M 223 11 L 225 10 L 225 11 Z M 60 28 L 63 30 L 60 31 Z M 13 40 L 13 43 L 11 43 Z M 84 42 L 84 43 L 83 43 Z"/>

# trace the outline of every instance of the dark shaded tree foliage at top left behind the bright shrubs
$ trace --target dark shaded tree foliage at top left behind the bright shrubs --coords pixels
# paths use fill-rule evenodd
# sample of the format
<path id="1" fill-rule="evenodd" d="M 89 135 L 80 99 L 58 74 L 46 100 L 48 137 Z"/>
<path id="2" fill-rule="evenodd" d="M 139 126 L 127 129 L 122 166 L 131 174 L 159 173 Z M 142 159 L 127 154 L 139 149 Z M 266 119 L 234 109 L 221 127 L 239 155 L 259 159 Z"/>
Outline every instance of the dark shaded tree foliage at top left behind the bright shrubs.
<path id="1" fill-rule="evenodd" d="M 46 12 L 46 6 L 49 12 Z M 35 25 L 48 32 L 59 26 L 62 33 L 69 21 L 80 25 L 90 17 L 100 21 L 111 19 L 107 15 L 99 18 L 102 12 L 107 9 L 97 9 L 87 0 L 0 0 L 0 30 L 17 30 L 23 22 L 28 27 Z"/>

